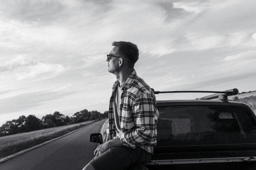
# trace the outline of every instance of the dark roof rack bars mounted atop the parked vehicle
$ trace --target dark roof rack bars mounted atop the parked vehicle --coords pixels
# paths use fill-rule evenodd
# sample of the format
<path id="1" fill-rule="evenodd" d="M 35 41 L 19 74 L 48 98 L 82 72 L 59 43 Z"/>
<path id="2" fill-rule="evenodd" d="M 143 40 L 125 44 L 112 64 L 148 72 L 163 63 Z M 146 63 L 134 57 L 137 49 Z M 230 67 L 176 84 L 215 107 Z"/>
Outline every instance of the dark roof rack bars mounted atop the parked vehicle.
<path id="1" fill-rule="evenodd" d="M 196 100 L 210 100 L 210 99 L 215 99 L 215 98 L 218 98 L 220 100 L 228 100 L 228 96 L 238 94 L 237 89 L 230 89 L 230 90 L 226 90 L 223 92 L 218 92 L 218 91 L 167 91 L 167 92 L 160 92 L 160 91 L 155 91 L 154 89 L 152 89 L 152 91 L 155 94 L 160 94 L 160 93 L 215 93 L 215 94 L 212 94 L 209 96 L 196 98 Z"/>

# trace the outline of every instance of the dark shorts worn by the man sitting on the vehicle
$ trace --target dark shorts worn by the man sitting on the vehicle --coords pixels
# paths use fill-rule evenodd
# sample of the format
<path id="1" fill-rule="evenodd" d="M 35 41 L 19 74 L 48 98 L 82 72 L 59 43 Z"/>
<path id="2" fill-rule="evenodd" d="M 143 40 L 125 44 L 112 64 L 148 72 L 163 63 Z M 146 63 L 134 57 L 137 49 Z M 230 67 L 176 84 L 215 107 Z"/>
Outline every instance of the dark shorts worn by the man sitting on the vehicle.
<path id="1" fill-rule="evenodd" d="M 95 157 L 90 164 L 95 170 L 126 170 L 136 163 L 146 164 L 151 157 L 152 154 L 142 148 L 129 149 L 122 146 L 107 150 Z"/>

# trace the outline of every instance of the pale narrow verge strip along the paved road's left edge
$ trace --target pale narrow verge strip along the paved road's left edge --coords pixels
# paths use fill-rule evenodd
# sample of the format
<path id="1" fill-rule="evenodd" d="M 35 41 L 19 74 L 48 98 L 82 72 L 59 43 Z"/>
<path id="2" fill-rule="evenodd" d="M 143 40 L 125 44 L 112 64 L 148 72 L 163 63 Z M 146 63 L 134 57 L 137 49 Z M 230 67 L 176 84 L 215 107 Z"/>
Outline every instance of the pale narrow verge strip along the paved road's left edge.
<path id="1" fill-rule="evenodd" d="M 96 122 L 98 122 L 98 121 L 95 121 L 94 123 L 96 123 Z M 94 123 L 92 123 L 92 124 L 94 124 Z M 30 150 L 34 150 L 34 149 L 39 148 L 39 147 L 41 147 L 41 146 L 43 146 L 43 145 L 46 145 L 46 144 L 48 144 L 48 143 L 50 143 L 50 142 L 53 142 L 53 141 L 55 141 L 55 140 L 57 140 L 57 139 L 60 139 L 61 137 L 64 137 L 64 136 L 69 135 L 69 134 L 72 134 L 73 132 L 76 132 L 76 131 L 78 131 L 78 130 L 80 130 L 80 129 L 82 129 L 82 128 L 85 128 L 85 127 L 87 127 L 87 126 L 89 126 L 89 125 L 92 125 L 92 124 L 88 124 L 88 125 L 86 125 L 86 126 L 84 126 L 84 127 L 81 127 L 81 128 L 79 128 L 79 129 L 77 129 L 77 130 L 74 130 L 74 131 L 72 131 L 72 132 L 69 132 L 69 133 L 67 133 L 67 134 L 65 134 L 65 135 L 62 135 L 62 136 L 60 136 L 60 137 L 57 137 L 57 138 L 48 140 L 48 141 L 46 141 L 46 142 L 43 142 L 43 143 L 38 144 L 38 145 L 36 145 L 36 146 L 33 146 L 33 147 L 31 147 L 31 148 L 28 148 L 28 149 L 19 151 L 19 152 L 17 152 L 17 153 L 14 153 L 14 154 L 12 154 L 12 155 L 9 155 L 9 156 L 7 156 L 7 157 L 5 157 L 5 158 L 2 158 L 2 159 L 0 159 L 0 164 L 1 164 L 1 163 L 5 163 L 5 162 L 7 162 L 8 160 L 10 160 L 10 159 L 12 159 L 12 158 L 15 158 L 15 157 L 17 157 L 17 156 L 20 156 L 20 155 L 22 155 L 22 154 L 24 154 L 24 153 L 26 153 L 26 152 L 28 152 L 28 151 L 30 151 Z"/>

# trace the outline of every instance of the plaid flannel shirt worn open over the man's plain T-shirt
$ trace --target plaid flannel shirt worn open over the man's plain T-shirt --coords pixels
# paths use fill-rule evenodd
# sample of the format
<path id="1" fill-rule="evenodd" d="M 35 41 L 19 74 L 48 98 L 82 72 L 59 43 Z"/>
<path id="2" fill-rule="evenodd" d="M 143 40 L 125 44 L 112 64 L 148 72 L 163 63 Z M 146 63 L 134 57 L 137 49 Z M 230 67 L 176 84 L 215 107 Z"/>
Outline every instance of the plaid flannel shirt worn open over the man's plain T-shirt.
<path id="1" fill-rule="evenodd" d="M 115 133 L 114 121 L 114 92 L 119 81 L 116 80 L 112 87 L 112 95 L 109 106 L 109 124 L 107 133 L 109 139 L 113 139 Z M 154 92 L 138 77 L 133 70 L 126 83 L 122 87 L 121 102 L 119 106 L 120 134 L 117 138 L 121 143 L 130 149 L 141 147 L 153 154 L 153 147 L 156 146 L 157 120 L 156 97 Z"/>

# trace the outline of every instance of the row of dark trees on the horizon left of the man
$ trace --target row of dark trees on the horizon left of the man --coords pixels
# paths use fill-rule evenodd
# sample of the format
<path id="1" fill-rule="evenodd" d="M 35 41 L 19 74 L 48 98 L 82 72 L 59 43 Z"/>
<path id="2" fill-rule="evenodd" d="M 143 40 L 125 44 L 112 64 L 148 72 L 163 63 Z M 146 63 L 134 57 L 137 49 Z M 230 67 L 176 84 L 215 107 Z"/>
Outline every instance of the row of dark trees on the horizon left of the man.
<path id="1" fill-rule="evenodd" d="M 88 111 L 87 109 L 76 112 L 70 117 L 58 111 L 53 114 L 45 115 L 42 119 L 38 119 L 35 115 L 28 115 L 27 117 L 22 115 L 16 120 L 6 121 L 6 123 L 0 127 L 0 136 L 14 135 L 88 120 L 101 120 L 108 117 L 109 111 L 100 113 L 97 110 Z"/>

